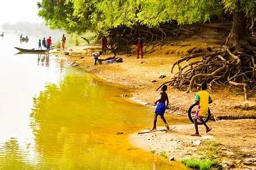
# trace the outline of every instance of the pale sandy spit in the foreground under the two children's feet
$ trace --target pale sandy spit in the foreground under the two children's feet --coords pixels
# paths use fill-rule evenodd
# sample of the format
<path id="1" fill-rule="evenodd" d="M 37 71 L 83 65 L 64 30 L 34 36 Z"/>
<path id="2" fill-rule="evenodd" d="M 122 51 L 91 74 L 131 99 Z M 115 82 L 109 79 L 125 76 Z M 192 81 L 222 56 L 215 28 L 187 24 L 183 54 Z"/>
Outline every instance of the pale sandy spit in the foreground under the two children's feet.
<path id="1" fill-rule="evenodd" d="M 132 134 L 134 146 L 150 153 L 183 158 L 205 158 L 218 160 L 223 167 L 256 167 L 256 120 L 221 120 L 209 123 L 211 132 L 205 133 L 204 126 L 199 131 L 202 137 L 192 137 L 193 124 L 177 125 L 172 132 L 151 132 Z M 172 126 L 173 127 L 173 126 Z M 159 127 L 158 129 L 164 129 Z M 144 130 L 143 132 L 147 132 Z"/>

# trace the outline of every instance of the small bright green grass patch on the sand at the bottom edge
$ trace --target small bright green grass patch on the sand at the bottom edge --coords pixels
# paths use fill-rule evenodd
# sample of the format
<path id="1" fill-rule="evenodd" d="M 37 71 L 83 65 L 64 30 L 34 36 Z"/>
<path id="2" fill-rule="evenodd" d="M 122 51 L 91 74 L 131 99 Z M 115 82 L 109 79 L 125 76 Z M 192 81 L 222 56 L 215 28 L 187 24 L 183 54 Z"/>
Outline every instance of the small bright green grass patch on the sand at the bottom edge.
<path id="1" fill-rule="evenodd" d="M 186 158 L 182 159 L 181 162 L 190 168 L 198 168 L 200 170 L 208 170 L 211 169 L 211 167 L 221 167 L 218 160 Z"/>

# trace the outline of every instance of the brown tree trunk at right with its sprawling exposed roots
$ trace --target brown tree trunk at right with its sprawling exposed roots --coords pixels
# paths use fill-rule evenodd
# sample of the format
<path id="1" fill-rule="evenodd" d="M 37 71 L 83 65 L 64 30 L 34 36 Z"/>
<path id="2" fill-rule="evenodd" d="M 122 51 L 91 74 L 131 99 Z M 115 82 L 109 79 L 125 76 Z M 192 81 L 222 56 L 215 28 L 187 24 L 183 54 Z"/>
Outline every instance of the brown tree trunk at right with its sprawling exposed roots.
<path id="1" fill-rule="evenodd" d="M 197 2 L 199 3 L 199 1 Z M 194 86 L 200 86 L 202 81 L 207 81 L 210 85 L 214 82 L 221 84 L 228 82 L 235 86 L 243 86 L 244 98 L 247 100 L 246 88 L 255 87 L 256 82 L 256 38 L 248 35 L 246 28 L 250 17 L 255 15 L 256 1 L 223 0 L 222 3 L 225 5 L 226 11 L 233 15 L 232 29 L 225 47 L 218 52 L 192 54 L 180 59 L 172 67 L 173 70 L 174 66 L 178 65 L 179 73 L 172 81 L 166 83 L 177 88 L 189 86 L 187 89 L 189 92 Z M 201 57 L 201 60 L 188 63 L 190 59 L 198 57 Z M 187 62 L 184 67 L 180 66 L 183 61 Z"/>

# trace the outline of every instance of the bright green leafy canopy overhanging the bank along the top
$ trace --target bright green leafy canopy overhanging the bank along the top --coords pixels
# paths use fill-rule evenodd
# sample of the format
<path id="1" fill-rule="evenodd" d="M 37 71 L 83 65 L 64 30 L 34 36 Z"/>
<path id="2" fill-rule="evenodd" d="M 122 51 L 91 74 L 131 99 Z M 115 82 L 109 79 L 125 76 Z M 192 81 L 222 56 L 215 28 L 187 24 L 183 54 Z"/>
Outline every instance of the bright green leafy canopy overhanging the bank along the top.
<path id="1" fill-rule="evenodd" d="M 100 32 L 118 26 L 159 26 L 207 22 L 224 11 L 255 15 L 255 0 L 42 0 L 39 13 L 54 29 L 68 33 Z"/>

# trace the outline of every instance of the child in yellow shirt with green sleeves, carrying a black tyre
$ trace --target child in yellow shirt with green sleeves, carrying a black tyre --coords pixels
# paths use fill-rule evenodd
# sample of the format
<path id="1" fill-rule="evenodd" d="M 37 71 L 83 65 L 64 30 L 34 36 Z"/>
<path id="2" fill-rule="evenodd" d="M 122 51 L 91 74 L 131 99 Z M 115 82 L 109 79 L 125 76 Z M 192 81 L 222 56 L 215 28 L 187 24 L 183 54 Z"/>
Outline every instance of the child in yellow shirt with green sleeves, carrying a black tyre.
<path id="1" fill-rule="evenodd" d="M 194 124 L 195 124 L 195 134 L 192 134 L 193 136 L 200 136 L 199 132 L 198 132 L 198 125 L 197 125 L 197 120 L 200 120 L 203 125 L 206 128 L 206 133 L 209 132 L 211 130 L 211 128 L 209 128 L 206 123 L 204 122 L 203 118 L 206 116 L 207 112 L 208 112 L 208 105 L 212 103 L 212 99 L 211 96 L 209 94 L 208 91 L 206 91 L 207 89 L 207 84 L 206 82 L 203 82 L 201 85 L 201 91 L 198 91 L 198 93 L 196 93 L 196 104 L 198 104 L 198 109 L 196 110 L 196 114 L 194 117 Z"/>

